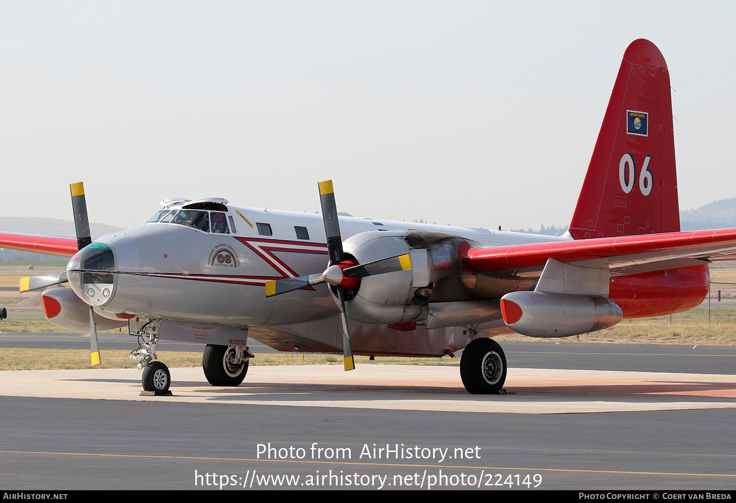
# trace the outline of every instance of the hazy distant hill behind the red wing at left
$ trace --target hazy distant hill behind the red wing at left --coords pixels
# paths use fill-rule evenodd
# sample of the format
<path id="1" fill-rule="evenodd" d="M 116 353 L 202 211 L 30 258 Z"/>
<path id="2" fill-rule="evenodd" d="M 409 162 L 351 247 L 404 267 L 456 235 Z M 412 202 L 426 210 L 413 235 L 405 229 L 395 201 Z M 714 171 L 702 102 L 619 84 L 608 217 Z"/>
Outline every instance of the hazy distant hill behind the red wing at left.
<path id="1" fill-rule="evenodd" d="M 90 224 L 92 238 L 122 230 L 106 224 Z M 0 232 L 22 232 L 49 236 L 74 237 L 74 222 L 58 218 L 43 217 L 0 217 Z M 0 260 L 59 260 L 53 255 L 0 249 Z"/>

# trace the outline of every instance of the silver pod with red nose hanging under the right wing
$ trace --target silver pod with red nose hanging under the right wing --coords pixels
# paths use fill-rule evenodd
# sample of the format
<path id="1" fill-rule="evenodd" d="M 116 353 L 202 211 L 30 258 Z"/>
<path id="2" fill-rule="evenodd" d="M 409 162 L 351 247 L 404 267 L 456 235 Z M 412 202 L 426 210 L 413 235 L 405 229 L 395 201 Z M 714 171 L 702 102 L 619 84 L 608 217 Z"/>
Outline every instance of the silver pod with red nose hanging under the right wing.
<path id="1" fill-rule="evenodd" d="M 503 321 L 529 337 L 569 337 L 612 327 L 623 318 L 604 296 L 512 292 L 501 297 Z"/>

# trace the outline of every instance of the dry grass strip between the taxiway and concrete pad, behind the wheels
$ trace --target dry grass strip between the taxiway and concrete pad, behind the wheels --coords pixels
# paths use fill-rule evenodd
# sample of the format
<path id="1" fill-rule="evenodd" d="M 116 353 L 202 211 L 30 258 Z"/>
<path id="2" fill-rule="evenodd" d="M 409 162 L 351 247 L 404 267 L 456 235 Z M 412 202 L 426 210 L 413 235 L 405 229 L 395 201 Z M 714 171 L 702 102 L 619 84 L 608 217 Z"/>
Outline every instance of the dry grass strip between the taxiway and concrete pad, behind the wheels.
<path id="1" fill-rule="evenodd" d="M 201 367 L 201 352 L 157 352 L 159 360 L 171 368 Z M 0 350 L 0 371 L 15 370 L 73 370 L 77 368 L 135 368 L 138 362 L 130 360 L 130 352 L 120 349 L 102 350 L 102 363 L 94 367 L 89 364 L 88 349 L 26 349 L 7 348 Z M 303 358 L 303 359 L 302 359 Z M 408 358 L 408 357 L 355 357 L 360 365 L 381 363 L 403 365 L 447 365 L 460 363 L 458 358 Z M 342 365 L 342 357 L 336 354 L 266 353 L 257 354 L 249 365 Z"/>

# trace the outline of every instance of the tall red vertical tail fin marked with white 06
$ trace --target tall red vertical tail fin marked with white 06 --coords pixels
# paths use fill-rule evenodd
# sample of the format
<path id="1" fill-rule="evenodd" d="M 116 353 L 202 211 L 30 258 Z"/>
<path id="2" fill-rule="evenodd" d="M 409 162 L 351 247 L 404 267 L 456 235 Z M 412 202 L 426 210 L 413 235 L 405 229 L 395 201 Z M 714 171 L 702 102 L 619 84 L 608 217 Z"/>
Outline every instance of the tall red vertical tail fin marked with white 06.
<path id="1" fill-rule="evenodd" d="M 634 40 L 623 54 L 570 235 L 679 230 L 670 75 L 654 43 Z"/>

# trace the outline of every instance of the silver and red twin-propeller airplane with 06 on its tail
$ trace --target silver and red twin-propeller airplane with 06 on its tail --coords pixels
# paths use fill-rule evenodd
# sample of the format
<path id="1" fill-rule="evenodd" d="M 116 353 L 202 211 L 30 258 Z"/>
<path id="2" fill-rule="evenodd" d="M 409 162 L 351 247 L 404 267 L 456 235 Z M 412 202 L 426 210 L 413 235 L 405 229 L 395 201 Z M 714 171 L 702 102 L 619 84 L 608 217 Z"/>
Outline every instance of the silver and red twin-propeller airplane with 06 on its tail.
<path id="1" fill-rule="evenodd" d="M 71 257 L 21 280 L 46 318 L 91 332 L 127 327 L 144 390 L 166 393 L 160 339 L 203 343 L 205 377 L 237 386 L 252 338 L 280 351 L 442 357 L 463 350 L 470 393 L 500 393 L 493 336 L 562 338 L 623 318 L 696 307 L 708 264 L 734 258 L 736 229 L 680 232 L 670 79 L 648 40 L 626 49 L 570 226 L 559 237 L 169 198 L 145 224 L 90 238 L 71 185 L 76 238 L 0 234 L 0 247 Z M 48 288 L 67 283 L 69 287 Z M 46 289 L 48 288 L 48 289 Z"/>

